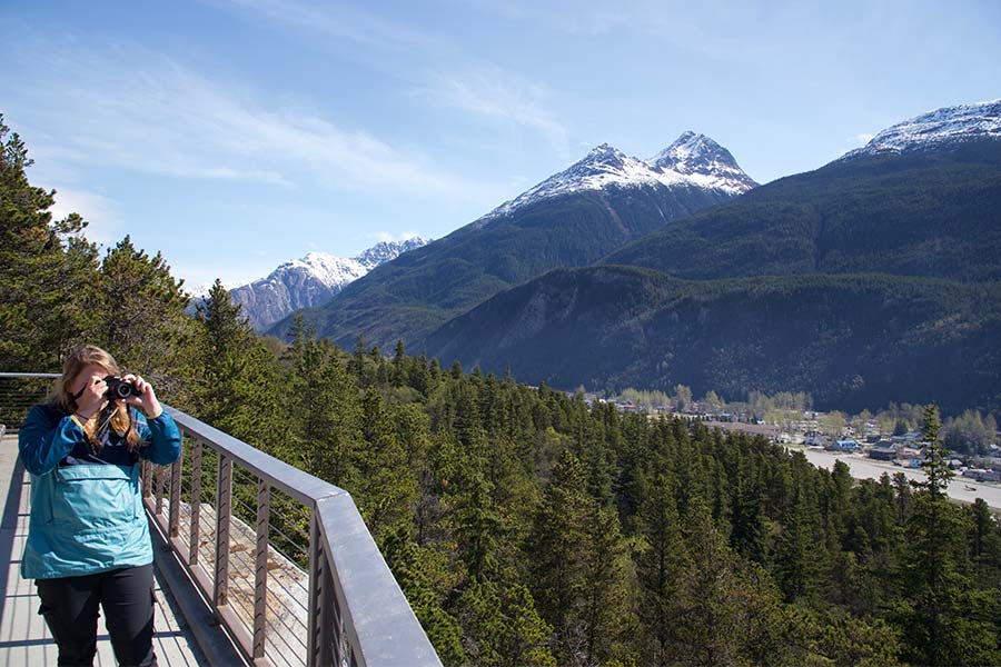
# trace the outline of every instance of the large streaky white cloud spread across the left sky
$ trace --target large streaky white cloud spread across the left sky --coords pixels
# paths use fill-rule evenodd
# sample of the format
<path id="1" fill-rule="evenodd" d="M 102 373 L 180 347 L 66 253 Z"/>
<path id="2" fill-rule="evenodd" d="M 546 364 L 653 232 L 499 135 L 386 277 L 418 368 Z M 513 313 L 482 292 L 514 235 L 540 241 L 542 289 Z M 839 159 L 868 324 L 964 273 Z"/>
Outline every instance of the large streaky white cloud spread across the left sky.
<path id="1" fill-rule="evenodd" d="M 338 188 L 392 183 L 436 197 L 476 191 L 413 149 L 400 150 L 361 129 L 265 103 L 141 47 L 112 51 L 52 53 L 37 86 L 21 93 L 38 109 L 33 123 L 57 128 L 50 133 L 59 136 L 59 147 L 42 148 L 50 158 L 285 188 L 318 178 Z M 60 103 L 51 104 L 52 99 Z"/>

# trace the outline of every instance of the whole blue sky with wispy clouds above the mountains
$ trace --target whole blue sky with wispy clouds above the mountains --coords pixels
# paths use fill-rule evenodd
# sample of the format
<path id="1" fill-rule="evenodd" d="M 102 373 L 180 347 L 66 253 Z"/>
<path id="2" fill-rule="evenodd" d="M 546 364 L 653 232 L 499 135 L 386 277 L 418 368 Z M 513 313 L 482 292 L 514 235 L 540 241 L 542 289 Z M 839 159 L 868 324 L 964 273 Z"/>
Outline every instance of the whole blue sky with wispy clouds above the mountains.
<path id="1" fill-rule="evenodd" d="M 0 58 L 57 211 L 197 286 L 440 238 L 602 142 L 814 169 L 1001 97 L 1001 2 L 6 0 Z"/>

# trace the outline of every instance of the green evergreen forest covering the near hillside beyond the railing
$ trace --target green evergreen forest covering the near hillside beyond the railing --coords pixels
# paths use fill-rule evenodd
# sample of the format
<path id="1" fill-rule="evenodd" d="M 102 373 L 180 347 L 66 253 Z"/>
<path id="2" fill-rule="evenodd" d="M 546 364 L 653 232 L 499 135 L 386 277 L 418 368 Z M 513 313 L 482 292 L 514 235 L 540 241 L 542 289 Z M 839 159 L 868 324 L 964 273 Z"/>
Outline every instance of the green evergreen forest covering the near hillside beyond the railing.
<path id="1" fill-rule="evenodd" d="M 2 123 L 0 123 L 2 125 Z M 343 486 L 449 666 L 1001 663 L 1001 527 L 929 482 L 853 482 L 760 438 L 513 378 L 258 338 L 159 256 L 52 225 L 3 137 L 3 370 L 82 341 L 171 405 Z M 925 412 L 925 434 L 938 416 Z M 238 491 L 239 492 L 239 491 Z M 304 519 L 305 520 L 305 519 Z"/>

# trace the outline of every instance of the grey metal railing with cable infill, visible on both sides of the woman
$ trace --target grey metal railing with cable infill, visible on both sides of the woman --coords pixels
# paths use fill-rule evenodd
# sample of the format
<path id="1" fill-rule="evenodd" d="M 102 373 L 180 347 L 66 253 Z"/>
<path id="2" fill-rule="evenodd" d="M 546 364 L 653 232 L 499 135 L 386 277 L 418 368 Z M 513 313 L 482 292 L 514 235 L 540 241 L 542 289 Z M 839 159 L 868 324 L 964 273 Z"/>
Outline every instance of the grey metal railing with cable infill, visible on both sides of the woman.
<path id="1" fill-rule="evenodd" d="M 440 667 L 347 491 L 167 410 L 181 458 L 143 464 L 143 500 L 248 661 Z"/>

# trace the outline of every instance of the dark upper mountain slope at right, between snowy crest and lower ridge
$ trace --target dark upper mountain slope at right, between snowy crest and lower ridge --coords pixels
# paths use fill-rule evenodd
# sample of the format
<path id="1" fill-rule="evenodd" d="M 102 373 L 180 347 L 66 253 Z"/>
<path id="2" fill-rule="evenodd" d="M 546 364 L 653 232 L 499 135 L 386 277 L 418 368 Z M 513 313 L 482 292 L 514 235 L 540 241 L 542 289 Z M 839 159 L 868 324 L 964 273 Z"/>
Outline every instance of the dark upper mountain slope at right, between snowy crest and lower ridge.
<path id="1" fill-rule="evenodd" d="M 756 188 L 605 261 L 692 279 L 876 271 L 1001 280 L 1001 131 L 984 130 L 1001 128 L 1001 103 L 973 107 L 981 116 L 970 107 L 952 108 L 960 118 L 951 122 L 948 109 L 926 115 L 939 132 L 913 130 L 928 129 L 925 117 L 894 126 L 869 150 Z M 904 136 L 912 140 L 888 139 Z"/>

